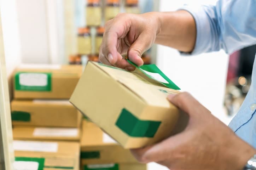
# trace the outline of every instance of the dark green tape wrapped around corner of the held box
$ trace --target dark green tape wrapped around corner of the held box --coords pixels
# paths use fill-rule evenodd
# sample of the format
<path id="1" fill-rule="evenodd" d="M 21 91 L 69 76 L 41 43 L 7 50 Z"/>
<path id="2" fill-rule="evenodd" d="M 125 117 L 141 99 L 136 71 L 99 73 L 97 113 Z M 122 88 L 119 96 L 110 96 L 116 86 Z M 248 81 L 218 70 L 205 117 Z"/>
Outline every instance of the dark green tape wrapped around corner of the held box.
<path id="1" fill-rule="evenodd" d="M 125 108 L 116 121 L 116 126 L 132 137 L 153 138 L 160 124 L 161 121 L 139 120 Z"/>

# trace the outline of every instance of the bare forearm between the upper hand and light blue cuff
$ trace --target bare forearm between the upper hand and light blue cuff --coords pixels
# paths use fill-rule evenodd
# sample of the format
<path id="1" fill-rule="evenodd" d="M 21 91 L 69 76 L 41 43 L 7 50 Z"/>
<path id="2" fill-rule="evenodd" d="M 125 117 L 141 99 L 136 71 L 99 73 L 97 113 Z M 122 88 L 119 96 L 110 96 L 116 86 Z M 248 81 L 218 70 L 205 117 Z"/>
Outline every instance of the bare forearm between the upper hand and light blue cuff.
<path id="1" fill-rule="evenodd" d="M 155 43 L 191 52 L 196 43 L 196 23 L 187 11 L 158 12 L 158 34 Z"/>

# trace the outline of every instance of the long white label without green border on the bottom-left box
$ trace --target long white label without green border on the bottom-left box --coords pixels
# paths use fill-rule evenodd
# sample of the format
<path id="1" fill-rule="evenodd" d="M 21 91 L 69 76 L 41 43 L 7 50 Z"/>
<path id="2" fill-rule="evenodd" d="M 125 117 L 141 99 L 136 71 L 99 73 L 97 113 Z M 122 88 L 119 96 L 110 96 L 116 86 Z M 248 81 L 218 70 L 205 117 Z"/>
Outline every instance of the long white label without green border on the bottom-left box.
<path id="1" fill-rule="evenodd" d="M 57 142 L 40 142 L 40 141 L 13 141 L 14 151 L 31 151 L 31 152 L 57 152 Z"/>

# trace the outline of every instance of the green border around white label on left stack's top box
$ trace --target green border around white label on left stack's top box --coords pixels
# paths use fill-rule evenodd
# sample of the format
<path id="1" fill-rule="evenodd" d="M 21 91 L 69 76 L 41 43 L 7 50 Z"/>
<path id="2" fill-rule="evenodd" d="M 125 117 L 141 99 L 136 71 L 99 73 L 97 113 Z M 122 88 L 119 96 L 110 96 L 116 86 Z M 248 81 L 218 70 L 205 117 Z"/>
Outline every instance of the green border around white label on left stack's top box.
<path id="1" fill-rule="evenodd" d="M 37 75 L 46 75 L 47 76 L 47 84 L 45 86 L 28 86 L 22 85 L 20 83 L 20 75 L 21 74 L 37 74 Z M 19 91 L 51 91 L 52 90 L 52 73 L 41 73 L 41 72 L 17 72 L 14 76 L 15 80 L 15 90 Z"/>

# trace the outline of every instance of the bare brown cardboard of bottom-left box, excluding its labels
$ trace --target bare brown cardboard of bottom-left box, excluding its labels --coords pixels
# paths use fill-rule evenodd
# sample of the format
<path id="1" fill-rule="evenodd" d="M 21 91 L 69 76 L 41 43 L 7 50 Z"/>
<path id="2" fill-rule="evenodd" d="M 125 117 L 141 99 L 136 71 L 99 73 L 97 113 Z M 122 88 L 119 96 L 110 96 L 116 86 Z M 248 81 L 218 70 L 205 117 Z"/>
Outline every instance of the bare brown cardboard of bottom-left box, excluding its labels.
<path id="1" fill-rule="evenodd" d="M 56 153 L 14 151 L 14 154 L 15 157 L 45 158 L 44 170 L 60 170 L 66 169 L 65 167 L 73 167 L 71 170 L 79 170 L 79 147 L 78 142 L 58 142 Z"/>

